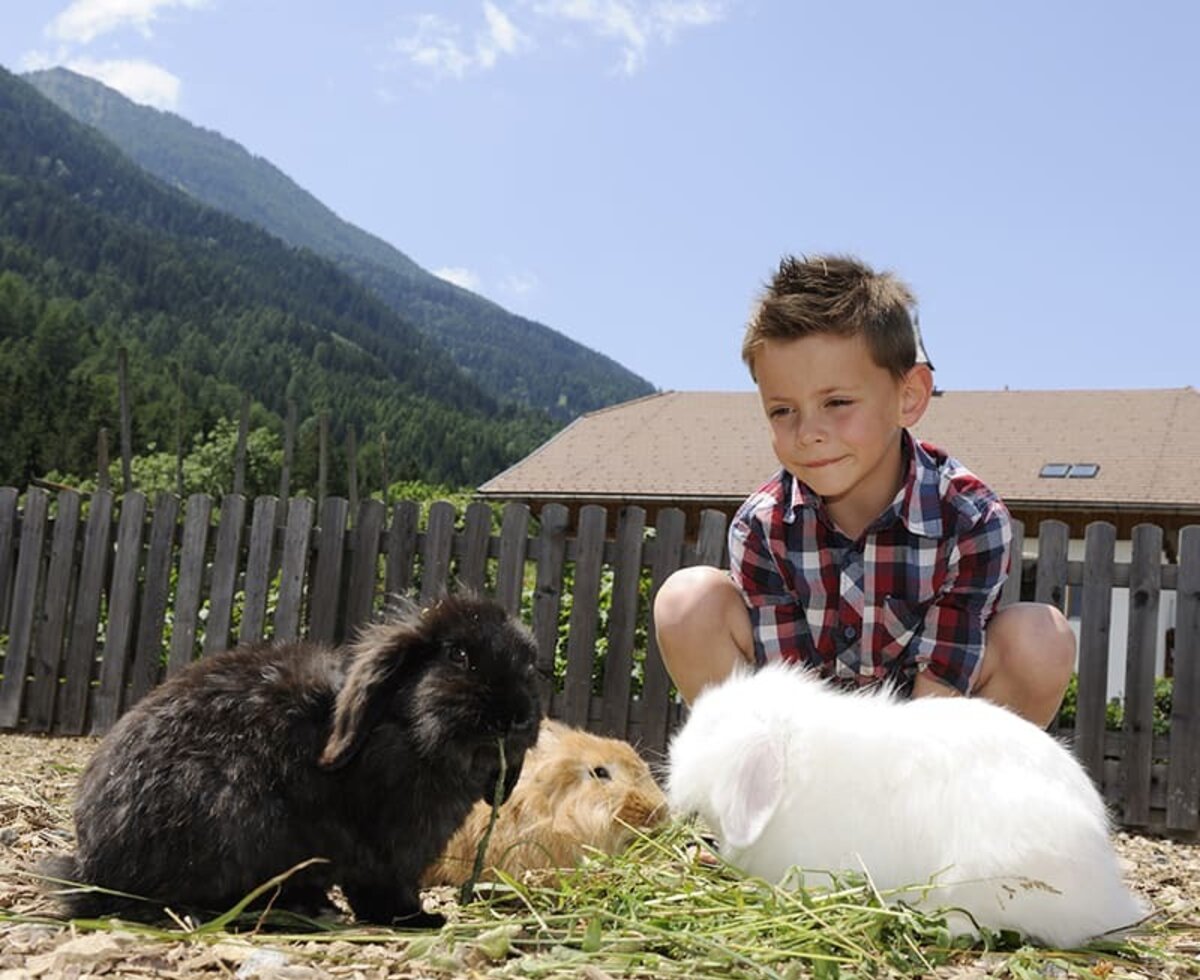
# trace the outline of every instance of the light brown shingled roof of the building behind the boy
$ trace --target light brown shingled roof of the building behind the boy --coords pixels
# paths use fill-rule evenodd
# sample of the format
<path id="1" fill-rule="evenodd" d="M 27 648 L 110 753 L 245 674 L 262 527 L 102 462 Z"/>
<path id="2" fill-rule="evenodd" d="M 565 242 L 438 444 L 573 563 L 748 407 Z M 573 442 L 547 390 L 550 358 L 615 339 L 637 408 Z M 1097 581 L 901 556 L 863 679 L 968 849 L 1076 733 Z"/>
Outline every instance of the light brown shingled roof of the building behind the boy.
<path id="1" fill-rule="evenodd" d="M 1200 519 L 1200 392 L 946 391 L 916 426 L 1009 506 Z M 1098 467 L 1039 476 L 1048 463 Z M 666 391 L 590 413 L 484 483 L 485 498 L 736 505 L 778 463 L 754 391 Z"/>

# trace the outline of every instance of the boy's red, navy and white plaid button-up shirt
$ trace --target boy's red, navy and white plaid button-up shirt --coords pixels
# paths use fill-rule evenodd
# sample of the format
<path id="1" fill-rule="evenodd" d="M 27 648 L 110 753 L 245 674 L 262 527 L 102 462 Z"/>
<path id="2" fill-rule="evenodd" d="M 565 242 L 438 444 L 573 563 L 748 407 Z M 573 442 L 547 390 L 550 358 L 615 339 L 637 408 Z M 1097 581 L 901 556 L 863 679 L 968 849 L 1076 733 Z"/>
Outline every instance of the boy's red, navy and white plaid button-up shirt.
<path id="1" fill-rule="evenodd" d="M 738 510 L 730 564 L 758 663 L 782 657 L 908 690 L 928 669 L 971 691 L 1008 573 L 1008 510 L 956 459 L 901 438 L 908 476 L 858 541 L 786 470 Z"/>

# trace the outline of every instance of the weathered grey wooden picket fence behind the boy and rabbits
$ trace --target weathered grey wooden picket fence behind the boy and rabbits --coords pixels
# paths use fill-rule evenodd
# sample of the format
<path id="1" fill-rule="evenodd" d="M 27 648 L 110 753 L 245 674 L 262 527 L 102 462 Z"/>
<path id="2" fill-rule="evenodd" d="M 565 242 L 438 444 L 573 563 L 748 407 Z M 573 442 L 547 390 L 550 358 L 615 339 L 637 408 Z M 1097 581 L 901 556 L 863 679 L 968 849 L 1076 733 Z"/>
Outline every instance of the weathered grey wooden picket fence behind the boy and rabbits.
<path id="1" fill-rule="evenodd" d="M 353 518 L 353 519 L 352 519 Z M 650 759 L 666 750 L 682 707 L 650 623 L 654 591 L 676 569 L 721 564 L 725 516 L 684 515 L 653 528 L 638 507 L 614 527 L 584 506 L 574 527 L 548 505 L 520 504 L 493 519 L 475 503 L 390 509 L 328 498 L 253 501 L 232 494 L 181 503 L 161 494 L 52 497 L 0 488 L 0 731 L 100 734 L 163 677 L 230 643 L 264 637 L 338 642 L 378 615 L 389 595 L 428 600 L 470 588 L 522 617 L 538 643 L 550 713 L 628 738 Z M 1014 554 L 1022 528 L 1016 525 Z M 1110 524 L 1087 529 L 1082 561 L 1068 560 L 1066 524 L 1038 529 L 1038 558 L 1013 575 L 1003 602 L 1026 589 L 1060 608 L 1081 589 L 1079 696 L 1062 729 L 1130 828 L 1200 831 L 1200 527 L 1163 564 L 1163 533 L 1140 525 L 1129 563 L 1114 560 Z M 1112 590 L 1129 590 L 1121 732 L 1105 731 Z M 1176 593 L 1170 734 L 1153 731 L 1158 607 Z M 557 680 L 548 678 L 557 677 Z"/>

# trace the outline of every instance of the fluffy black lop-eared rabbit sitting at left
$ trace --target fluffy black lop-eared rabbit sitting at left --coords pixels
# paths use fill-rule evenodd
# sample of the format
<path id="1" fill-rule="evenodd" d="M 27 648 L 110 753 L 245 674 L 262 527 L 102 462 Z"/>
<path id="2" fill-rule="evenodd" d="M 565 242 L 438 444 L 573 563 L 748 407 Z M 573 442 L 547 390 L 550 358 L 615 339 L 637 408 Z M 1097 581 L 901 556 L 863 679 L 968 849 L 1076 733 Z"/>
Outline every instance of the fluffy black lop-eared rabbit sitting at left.
<path id="1" fill-rule="evenodd" d="M 223 910 L 310 859 L 275 897 L 313 912 L 341 885 L 355 918 L 433 926 L 418 882 L 538 738 L 535 649 L 485 599 L 372 626 L 352 647 L 229 650 L 168 680 L 83 774 L 77 850 L 47 873 L 175 909 Z M 62 892 L 73 916 L 146 907 Z M 139 913 L 139 909 L 142 913 Z"/>

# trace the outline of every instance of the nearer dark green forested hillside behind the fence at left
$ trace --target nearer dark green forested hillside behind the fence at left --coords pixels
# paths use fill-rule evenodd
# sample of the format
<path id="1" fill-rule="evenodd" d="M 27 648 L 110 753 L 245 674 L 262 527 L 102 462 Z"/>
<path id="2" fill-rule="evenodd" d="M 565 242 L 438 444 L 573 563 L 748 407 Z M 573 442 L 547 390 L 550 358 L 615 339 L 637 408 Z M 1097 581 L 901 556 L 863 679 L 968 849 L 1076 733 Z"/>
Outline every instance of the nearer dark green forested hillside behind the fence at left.
<path id="1" fill-rule="evenodd" d="M 554 428 L 328 260 L 166 186 L 0 70 L 0 485 L 94 469 L 121 347 L 137 450 L 200 440 L 244 391 L 278 432 L 293 399 L 301 486 L 322 411 L 366 461 L 384 435 L 394 477 L 454 485 Z"/>

